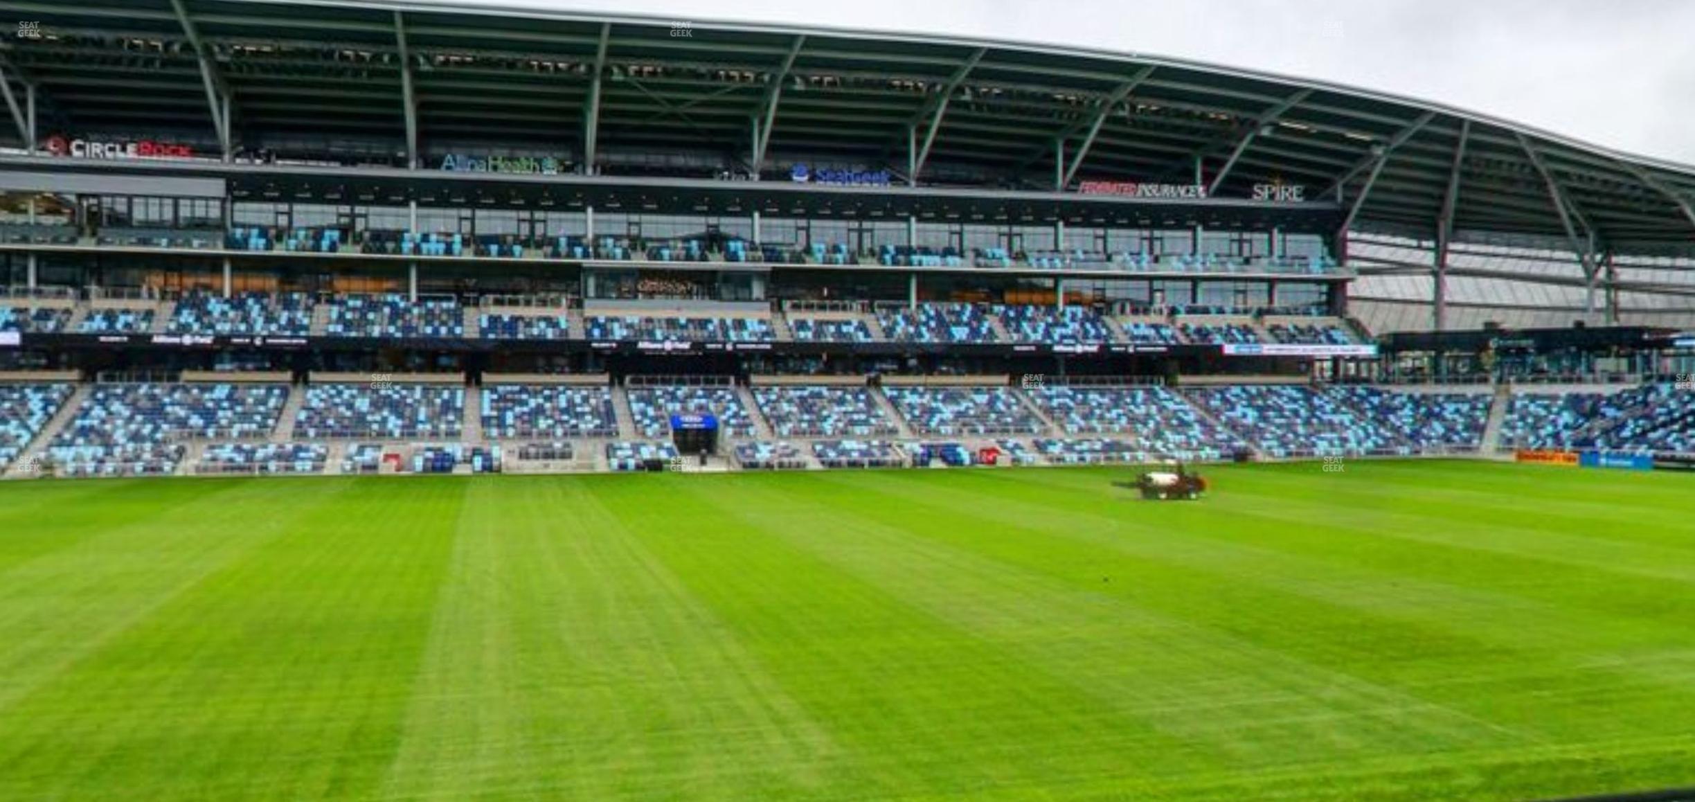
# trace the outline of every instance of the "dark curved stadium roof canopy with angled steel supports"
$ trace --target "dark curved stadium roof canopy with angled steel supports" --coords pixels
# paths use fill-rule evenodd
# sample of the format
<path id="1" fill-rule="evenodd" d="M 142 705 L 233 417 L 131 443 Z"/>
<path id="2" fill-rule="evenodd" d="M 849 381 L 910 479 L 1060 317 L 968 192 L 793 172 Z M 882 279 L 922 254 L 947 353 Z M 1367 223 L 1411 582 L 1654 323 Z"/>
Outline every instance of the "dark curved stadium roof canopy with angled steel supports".
<path id="1" fill-rule="evenodd" d="M 332 136 L 588 161 L 692 151 L 744 170 L 831 163 L 1002 188 L 1190 183 L 1198 161 L 1217 195 L 1302 185 L 1339 198 L 1361 231 L 1529 234 L 1573 253 L 1695 242 L 1692 166 L 1137 53 L 388 0 L 0 7 L 39 34 L 0 46 L 19 124 L 0 122 L 3 137 L 27 131 L 32 98 L 42 136 Z"/>

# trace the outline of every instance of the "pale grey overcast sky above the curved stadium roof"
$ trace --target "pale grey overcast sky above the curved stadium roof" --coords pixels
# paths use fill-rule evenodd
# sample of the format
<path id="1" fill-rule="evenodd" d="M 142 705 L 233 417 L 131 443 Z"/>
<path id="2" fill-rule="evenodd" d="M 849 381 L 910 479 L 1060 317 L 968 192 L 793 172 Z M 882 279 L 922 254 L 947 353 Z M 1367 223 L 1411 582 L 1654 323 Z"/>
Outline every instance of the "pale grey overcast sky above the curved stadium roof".
<path id="1" fill-rule="evenodd" d="M 1695 0 L 495 2 L 1188 58 L 1436 100 L 1695 164 Z"/>

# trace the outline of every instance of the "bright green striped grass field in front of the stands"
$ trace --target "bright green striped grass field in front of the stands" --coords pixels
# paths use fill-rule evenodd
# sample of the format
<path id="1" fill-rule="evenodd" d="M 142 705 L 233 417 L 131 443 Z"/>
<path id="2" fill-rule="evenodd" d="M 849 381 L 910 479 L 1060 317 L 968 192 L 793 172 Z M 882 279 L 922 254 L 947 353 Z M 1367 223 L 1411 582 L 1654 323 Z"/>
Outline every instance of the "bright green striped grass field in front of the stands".
<path id="1" fill-rule="evenodd" d="M 1695 785 L 1695 476 L 0 485 L 0 799 Z"/>

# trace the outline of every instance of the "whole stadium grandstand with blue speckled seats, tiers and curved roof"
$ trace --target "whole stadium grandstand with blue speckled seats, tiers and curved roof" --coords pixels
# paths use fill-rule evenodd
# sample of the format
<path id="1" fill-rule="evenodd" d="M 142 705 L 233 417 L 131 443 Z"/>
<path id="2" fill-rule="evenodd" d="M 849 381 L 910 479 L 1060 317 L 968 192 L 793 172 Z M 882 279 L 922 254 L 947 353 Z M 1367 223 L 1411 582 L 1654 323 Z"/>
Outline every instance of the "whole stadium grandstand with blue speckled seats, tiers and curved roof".
<path id="1" fill-rule="evenodd" d="M 1695 346 L 1695 168 L 1436 103 L 536 8 L 0 7 L 8 475 L 1476 451 L 1509 400 L 1232 376 L 1666 378 L 1587 426 Z"/>

